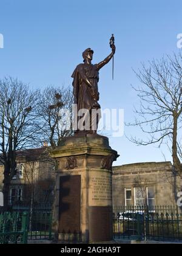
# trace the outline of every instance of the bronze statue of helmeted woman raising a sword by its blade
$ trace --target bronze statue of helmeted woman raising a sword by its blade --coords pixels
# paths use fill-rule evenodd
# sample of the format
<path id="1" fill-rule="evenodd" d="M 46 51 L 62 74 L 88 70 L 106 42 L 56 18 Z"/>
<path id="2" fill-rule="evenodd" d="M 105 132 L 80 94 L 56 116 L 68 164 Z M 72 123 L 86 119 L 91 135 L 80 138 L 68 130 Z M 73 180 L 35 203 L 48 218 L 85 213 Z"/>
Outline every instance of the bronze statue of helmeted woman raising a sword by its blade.
<path id="1" fill-rule="evenodd" d="M 113 36 L 113 35 L 112 35 Z M 111 42 L 111 41 L 110 41 Z M 98 64 L 92 64 L 93 50 L 87 48 L 83 52 L 84 63 L 78 64 L 75 71 L 72 74 L 73 78 L 73 95 L 74 103 L 77 104 L 77 111 L 80 109 L 87 109 L 89 111 L 89 130 L 84 131 L 86 133 L 96 133 L 98 127 L 99 117 L 96 120 L 92 118 L 92 109 L 100 110 L 101 106 L 98 103 L 98 81 L 99 81 L 99 69 L 106 65 L 115 54 L 115 44 L 110 43 L 112 48 L 111 54 L 109 54 L 103 61 Z M 78 121 L 81 117 L 78 116 Z M 93 123 L 96 122 L 96 128 L 93 129 Z M 78 133 L 80 130 L 76 131 Z"/>

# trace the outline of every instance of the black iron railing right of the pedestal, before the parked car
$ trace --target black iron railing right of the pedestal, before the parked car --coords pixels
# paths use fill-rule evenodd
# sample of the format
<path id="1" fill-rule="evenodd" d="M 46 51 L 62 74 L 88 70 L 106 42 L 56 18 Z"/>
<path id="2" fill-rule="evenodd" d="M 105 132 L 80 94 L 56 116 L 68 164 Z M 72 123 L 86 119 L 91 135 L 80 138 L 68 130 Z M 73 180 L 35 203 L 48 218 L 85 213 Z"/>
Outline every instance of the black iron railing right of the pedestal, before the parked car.
<path id="1" fill-rule="evenodd" d="M 181 241 L 181 210 L 176 206 L 113 207 L 113 238 Z"/>

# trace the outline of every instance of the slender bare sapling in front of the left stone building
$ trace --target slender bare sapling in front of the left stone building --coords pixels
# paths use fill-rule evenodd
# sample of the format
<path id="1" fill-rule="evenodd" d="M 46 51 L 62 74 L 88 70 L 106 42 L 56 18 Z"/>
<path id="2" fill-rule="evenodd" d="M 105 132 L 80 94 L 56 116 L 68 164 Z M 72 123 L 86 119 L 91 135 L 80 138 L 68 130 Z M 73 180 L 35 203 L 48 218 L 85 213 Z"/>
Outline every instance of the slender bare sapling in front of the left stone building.
<path id="1" fill-rule="evenodd" d="M 53 178 L 54 162 L 50 158 L 47 147 L 24 150 L 26 157 L 24 166 L 24 201 L 30 205 L 29 229 L 32 230 L 33 208 L 36 203 L 50 204 L 55 184 Z M 25 198 L 26 196 L 26 198 Z"/>

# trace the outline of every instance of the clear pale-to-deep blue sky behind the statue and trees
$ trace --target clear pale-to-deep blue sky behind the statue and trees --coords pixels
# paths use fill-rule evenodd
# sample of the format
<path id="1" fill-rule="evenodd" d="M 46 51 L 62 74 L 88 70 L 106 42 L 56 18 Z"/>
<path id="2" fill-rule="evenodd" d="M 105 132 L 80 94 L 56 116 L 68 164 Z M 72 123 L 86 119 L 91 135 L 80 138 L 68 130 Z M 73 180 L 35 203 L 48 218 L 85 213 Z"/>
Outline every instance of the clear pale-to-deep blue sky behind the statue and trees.
<path id="1" fill-rule="evenodd" d="M 18 77 L 33 88 L 71 85 L 83 50 L 91 47 L 93 63 L 98 63 L 110 53 L 109 38 L 114 33 L 115 79 L 110 62 L 100 71 L 99 103 L 102 108 L 123 108 L 125 121 L 132 121 L 138 102 L 130 87 L 138 85 L 132 68 L 177 52 L 181 12 L 181 0 L 1 0 L 0 78 Z M 143 136 L 136 128 L 124 131 Z M 124 136 L 111 137 L 110 145 L 121 155 L 115 165 L 164 161 L 158 148 L 136 147 Z M 165 148 L 163 153 L 170 161 Z"/>

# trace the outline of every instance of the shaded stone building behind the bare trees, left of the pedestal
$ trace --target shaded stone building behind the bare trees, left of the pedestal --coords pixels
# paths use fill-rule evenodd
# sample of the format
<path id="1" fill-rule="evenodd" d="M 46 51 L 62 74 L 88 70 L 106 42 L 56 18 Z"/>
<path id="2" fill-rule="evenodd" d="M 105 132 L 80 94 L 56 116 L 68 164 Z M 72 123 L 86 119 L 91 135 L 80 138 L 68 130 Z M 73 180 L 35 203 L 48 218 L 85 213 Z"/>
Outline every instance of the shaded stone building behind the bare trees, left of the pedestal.
<path id="1" fill-rule="evenodd" d="M 45 147 L 18 151 L 16 175 L 9 191 L 9 205 L 50 204 L 55 186 L 55 163 Z M 0 165 L 0 191 L 4 166 Z"/>

